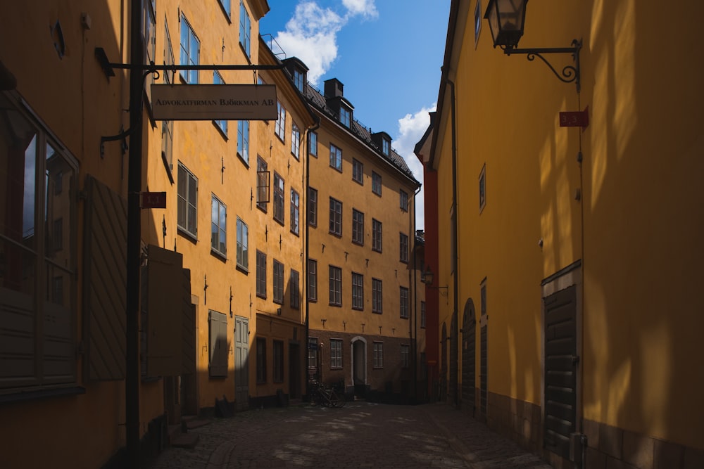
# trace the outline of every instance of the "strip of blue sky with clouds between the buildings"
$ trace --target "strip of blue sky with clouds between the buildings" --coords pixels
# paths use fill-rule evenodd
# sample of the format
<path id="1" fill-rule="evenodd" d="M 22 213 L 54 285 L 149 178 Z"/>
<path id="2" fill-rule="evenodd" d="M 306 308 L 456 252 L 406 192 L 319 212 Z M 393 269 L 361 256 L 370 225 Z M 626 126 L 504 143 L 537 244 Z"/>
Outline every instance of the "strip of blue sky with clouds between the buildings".
<path id="1" fill-rule="evenodd" d="M 354 117 L 389 134 L 422 182 L 413 147 L 436 106 L 450 1 L 268 0 L 259 32 L 271 34 L 286 57 L 303 60 L 318 89 L 339 79 Z M 422 229 L 422 191 L 416 215 Z"/>

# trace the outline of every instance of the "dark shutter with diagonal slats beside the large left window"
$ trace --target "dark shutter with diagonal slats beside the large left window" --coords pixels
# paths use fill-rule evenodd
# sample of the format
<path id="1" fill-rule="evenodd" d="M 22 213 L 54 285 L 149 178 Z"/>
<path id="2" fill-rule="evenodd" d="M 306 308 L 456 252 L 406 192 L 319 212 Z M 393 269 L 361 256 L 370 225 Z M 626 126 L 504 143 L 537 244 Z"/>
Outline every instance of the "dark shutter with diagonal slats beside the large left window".
<path id="1" fill-rule="evenodd" d="M 84 236 L 84 375 L 125 378 L 127 201 L 86 178 Z"/>

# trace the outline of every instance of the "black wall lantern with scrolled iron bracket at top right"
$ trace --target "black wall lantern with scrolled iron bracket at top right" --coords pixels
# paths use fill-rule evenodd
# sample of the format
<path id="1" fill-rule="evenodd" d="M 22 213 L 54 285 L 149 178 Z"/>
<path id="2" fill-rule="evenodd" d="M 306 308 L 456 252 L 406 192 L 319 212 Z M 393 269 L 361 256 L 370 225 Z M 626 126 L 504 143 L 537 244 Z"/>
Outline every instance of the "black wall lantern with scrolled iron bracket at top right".
<path id="1" fill-rule="evenodd" d="M 517 49 L 518 41 L 523 36 L 527 4 L 528 0 L 489 0 L 484 18 L 489 21 L 494 47 L 498 46 L 503 49 L 503 53 L 507 56 L 512 53 L 524 53 L 531 62 L 536 57 L 543 60 L 560 81 L 565 83 L 574 82 L 577 85 L 577 93 L 579 93 L 579 49 L 582 49 L 582 41 L 574 39 L 571 47 Z M 558 72 L 543 57 L 543 54 L 547 53 L 569 53 L 572 55 L 574 65 L 566 65 Z"/>

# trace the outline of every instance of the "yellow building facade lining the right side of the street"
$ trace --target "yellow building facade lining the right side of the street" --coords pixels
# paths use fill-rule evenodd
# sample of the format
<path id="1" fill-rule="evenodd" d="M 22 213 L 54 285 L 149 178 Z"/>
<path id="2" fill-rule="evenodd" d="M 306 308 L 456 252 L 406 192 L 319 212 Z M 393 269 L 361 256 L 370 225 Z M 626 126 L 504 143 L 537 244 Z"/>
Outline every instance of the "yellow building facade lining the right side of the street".
<path id="1" fill-rule="evenodd" d="M 451 298 L 441 397 L 556 467 L 697 467 L 703 103 L 679 34 L 704 11 L 529 2 L 519 48 L 582 41 L 577 92 L 495 49 L 487 3 L 452 3 L 425 155 Z"/>

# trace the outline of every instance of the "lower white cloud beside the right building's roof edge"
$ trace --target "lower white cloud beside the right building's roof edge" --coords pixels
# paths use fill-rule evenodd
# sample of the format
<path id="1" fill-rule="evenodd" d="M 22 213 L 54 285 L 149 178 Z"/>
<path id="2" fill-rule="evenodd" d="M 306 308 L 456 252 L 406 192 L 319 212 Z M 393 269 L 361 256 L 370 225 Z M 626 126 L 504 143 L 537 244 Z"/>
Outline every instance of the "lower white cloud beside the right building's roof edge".
<path id="1" fill-rule="evenodd" d="M 430 115 L 436 108 L 436 104 L 430 108 L 422 108 L 417 113 L 406 114 L 398 120 L 398 138 L 394 140 L 394 149 L 403 156 L 406 164 L 413 172 L 413 176 L 418 181 L 423 182 L 423 165 L 418 157 L 413 153 L 415 144 L 422 138 L 430 124 Z M 425 205 L 423 203 L 424 193 L 421 187 L 420 193 L 415 198 L 415 220 L 416 228 L 423 229 L 425 226 Z"/>

